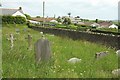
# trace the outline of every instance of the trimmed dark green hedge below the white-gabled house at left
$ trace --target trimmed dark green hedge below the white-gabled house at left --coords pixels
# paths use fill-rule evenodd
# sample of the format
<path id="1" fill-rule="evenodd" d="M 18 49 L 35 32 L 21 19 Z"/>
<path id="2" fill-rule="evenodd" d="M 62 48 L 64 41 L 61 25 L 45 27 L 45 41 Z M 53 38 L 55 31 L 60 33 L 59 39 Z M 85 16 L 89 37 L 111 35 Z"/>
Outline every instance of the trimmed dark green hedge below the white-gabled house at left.
<path id="1" fill-rule="evenodd" d="M 25 24 L 26 19 L 21 16 L 2 16 L 2 23 L 6 24 Z"/>

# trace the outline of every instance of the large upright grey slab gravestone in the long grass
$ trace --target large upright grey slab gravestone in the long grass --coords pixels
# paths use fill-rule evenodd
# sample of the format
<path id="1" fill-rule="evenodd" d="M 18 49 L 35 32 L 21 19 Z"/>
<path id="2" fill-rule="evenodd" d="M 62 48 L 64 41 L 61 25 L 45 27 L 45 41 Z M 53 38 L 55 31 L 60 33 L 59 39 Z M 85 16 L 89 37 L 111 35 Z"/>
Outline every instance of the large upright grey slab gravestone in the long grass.
<path id="1" fill-rule="evenodd" d="M 39 39 L 35 43 L 36 63 L 40 61 L 48 61 L 51 57 L 50 42 L 47 39 Z"/>

